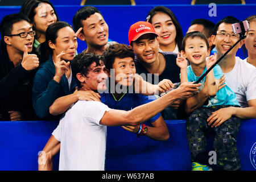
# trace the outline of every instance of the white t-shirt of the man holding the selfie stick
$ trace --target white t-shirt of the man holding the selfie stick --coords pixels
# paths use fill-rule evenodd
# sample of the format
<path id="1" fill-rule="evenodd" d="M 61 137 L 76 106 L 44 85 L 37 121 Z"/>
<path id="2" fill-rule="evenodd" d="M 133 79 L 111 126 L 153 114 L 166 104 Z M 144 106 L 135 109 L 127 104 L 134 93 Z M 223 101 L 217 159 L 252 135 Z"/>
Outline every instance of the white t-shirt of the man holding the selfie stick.
<path id="1" fill-rule="evenodd" d="M 60 171 L 103 171 L 106 126 L 100 120 L 109 107 L 97 101 L 77 101 L 60 119 L 52 135 L 60 144 Z"/>

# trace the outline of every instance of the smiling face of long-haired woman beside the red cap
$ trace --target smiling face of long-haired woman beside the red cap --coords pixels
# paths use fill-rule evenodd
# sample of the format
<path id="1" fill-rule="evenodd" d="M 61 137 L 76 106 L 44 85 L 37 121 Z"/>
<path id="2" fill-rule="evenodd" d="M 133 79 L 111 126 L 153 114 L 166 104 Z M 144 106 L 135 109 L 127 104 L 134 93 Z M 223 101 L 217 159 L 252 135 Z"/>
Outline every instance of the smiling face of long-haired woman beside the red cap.
<path id="1" fill-rule="evenodd" d="M 159 35 L 159 44 L 167 46 L 168 44 L 176 44 L 176 28 L 170 16 L 165 13 L 157 13 L 151 19 L 156 34 Z"/>

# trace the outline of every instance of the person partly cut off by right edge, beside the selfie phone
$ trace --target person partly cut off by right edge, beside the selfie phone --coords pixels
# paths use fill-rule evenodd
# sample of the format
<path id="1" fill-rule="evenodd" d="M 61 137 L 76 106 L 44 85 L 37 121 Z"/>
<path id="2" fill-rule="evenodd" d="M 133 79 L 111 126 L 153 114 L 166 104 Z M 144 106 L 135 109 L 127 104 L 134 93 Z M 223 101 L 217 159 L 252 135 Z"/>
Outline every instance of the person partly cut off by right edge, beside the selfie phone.
<path id="1" fill-rule="evenodd" d="M 245 61 L 256 67 L 256 15 L 249 16 L 245 20 L 249 22 L 250 27 L 245 38 L 245 47 L 248 52 L 248 57 Z"/>

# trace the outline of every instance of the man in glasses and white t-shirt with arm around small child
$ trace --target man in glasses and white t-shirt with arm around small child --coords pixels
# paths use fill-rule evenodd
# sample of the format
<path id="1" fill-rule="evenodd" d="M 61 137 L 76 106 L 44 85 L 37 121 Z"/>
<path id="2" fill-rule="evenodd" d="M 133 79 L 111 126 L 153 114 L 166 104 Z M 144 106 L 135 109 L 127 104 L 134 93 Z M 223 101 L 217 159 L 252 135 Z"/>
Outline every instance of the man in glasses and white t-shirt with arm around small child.
<path id="1" fill-rule="evenodd" d="M 216 60 L 240 39 L 240 35 L 234 34 L 232 28 L 232 24 L 238 22 L 239 20 L 233 16 L 227 16 L 214 27 L 211 39 L 217 49 Z M 232 116 L 241 119 L 256 118 L 256 69 L 253 65 L 236 56 L 237 50 L 242 47 L 243 43 L 244 40 L 241 40 L 218 63 L 222 72 L 225 73 L 225 84 L 236 93 L 237 101 L 241 107 L 226 107 L 215 111 L 208 118 L 209 125 L 219 126 Z M 203 105 L 207 98 L 207 96 L 202 96 L 200 103 L 193 104 Z M 192 106 L 190 107 L 193 110 Z"/>

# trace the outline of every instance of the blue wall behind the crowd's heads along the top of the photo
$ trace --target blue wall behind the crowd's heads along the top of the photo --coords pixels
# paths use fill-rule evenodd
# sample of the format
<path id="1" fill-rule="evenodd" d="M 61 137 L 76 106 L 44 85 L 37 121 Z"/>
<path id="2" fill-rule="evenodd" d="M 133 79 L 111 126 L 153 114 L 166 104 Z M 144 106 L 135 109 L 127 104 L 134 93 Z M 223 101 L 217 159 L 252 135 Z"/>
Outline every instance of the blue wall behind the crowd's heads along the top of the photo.
<path id="1" fill-rule="evenodd" d="M 137 5 L 137 6 L 96 6 L 104 16 L 109 25 L 109 38 L 119 43 L 129 44 L 128 31 L 131 24 L 139 20 L 145 20 L 148 11 L 156 5 Z M 183 34 L 188 30 L 190 23 L 196 18 L 206 18 L 217 23 L 225 16 L 232 15 L 243 20 L 247 16 L 255 14 L 256 4 L 254 5 L 217 5 L 216 16 L 209 16 L 211 8 L 208 5 L 166 5 L 170 8 L 181 24 Z M 72 18 L 81 6 L 56 6 L 60 20 L 72 24 Z M 0 7 L 0 20 L 3 16 L 11 13 L 18 13 L 20 7 Z M 85 42 L 79 40 L 77 52 L 86 48 Z M 238 51 L 238 56 L 245 58 L 242 49 Z"/>

